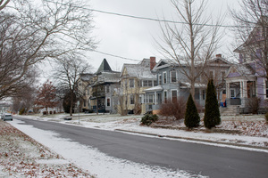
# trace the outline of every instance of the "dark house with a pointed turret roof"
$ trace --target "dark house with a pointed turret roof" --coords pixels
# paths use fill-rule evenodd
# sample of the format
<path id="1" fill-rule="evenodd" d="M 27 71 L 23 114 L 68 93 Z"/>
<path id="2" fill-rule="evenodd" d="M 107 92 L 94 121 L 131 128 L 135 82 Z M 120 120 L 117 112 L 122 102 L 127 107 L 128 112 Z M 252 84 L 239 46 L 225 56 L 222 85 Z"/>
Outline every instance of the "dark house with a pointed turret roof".
<path id="1" fill-rule="evenodd" d="M 91 109 L 95 112 L 114 113 L 113 91 L 119 85 L 120 72 L 113 71 L 104 59 L 90 84 L 89 97 Z"/>

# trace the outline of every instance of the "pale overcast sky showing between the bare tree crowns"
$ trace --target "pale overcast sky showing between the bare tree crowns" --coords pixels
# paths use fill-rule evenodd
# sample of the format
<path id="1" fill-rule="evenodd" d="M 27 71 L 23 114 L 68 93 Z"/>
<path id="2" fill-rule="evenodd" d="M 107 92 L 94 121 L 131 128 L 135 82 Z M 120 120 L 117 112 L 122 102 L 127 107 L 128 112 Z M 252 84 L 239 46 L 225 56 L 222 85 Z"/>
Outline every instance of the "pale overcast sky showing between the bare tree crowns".
<path id="1" fill-rule="evenodd" d="M 199 1 L 199 0 L 197 0 Z M 208 11 L 213 14 L 222 14 L 228 11 L 228 6 L 238 6 L 239 0 L 208 0 Z M 153 19 L 172 20 L 172 5 L 169 0 L 90 0 L 92 9 L 117 12 L 121 14 L 138 17 L 148 17 Z M 239 7 L 239 6 L 238 6 Z M 93 12 L 95 29 L 94 36 L 100 41 L 97 46 L 98 51 L 111 53 L 125 58 L 141 61 L 144 58 L 155 56 L 159 61 L 163 58 L 154 44 L 154 37 L 161 35 L 159 23 L 150 20 L 137 20 L 121 17 L 101 12 Z M 175 19 L 174 19 L 175 20 Z M 227 15 L 224 24 L 231 25 L 230 17 Z M 226 30 L 226 36 L 231 36 L 231 32 Z M 221 49 L 216 53 L 222 53 L 228 58 L 229 52 L 226 48 L 231 43 L 230 38 L 225 39 Z M 228 43 L 227 43 L 228 42 Z M 138 63 L 115 58 L 101 53 L 88 53 L 89 63 L 95 68 L 106 59 L 113 70 L 121 70 L 123 63 Z"/>

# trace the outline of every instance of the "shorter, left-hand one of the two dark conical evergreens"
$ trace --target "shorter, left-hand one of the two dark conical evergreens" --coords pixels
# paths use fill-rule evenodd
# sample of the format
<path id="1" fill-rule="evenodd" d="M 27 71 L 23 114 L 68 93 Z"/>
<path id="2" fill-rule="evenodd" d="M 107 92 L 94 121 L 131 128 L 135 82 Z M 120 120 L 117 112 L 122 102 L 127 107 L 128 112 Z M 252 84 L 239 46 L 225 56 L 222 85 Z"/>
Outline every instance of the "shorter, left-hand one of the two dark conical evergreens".
<path id="1" fill-rule="evenodd" d="M 192 94 L 190 93 L 188 96 L 188 101 L 186 104 L 186 113 L 184 118 L 184 124 L 188 128 L 193 128 L 199 126 L 200 117 L 197 112 L 197 106 L 193 101 Z"/>

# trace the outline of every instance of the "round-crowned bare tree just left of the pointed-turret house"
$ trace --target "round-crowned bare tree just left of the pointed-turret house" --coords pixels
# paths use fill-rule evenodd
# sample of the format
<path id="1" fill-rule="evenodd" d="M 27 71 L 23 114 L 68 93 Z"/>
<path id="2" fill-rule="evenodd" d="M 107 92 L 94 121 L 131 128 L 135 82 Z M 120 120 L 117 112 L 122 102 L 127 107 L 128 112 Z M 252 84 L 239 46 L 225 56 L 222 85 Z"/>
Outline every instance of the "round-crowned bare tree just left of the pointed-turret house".
<path id="1" fill-rule="evenodd" d="M 80 96 L 83 95 L 85 88 L 80 86 L 80 74 L 88 73 L 90 69 L 87 61 L 83 61 L 77 57 L 64 57 L 62 60 L 58 59 L 54 65 L 54 81 L 57 85 L 58 90 L 68 91 L 72 93 L 70 101 L 70 116 L 72 116 L 73 106 L 73 94 L 79 100 Z"/>

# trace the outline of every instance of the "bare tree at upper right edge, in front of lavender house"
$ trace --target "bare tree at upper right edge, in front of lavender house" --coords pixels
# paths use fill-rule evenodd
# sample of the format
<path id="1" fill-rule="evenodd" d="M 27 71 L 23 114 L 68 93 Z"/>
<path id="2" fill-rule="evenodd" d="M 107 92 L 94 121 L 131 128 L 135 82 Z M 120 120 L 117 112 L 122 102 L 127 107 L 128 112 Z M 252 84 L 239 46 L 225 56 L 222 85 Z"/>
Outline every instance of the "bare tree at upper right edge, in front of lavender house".
<path id="1" fill-rule="evenodd" d="M 268 78 L 268 1 L 243 0 L 240 10 L 232 9 L 231 15 L 236 22 L 236 53 L 240 62 L 255 62 L 255 72 Z"/>

